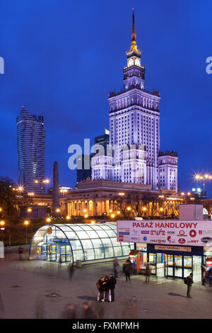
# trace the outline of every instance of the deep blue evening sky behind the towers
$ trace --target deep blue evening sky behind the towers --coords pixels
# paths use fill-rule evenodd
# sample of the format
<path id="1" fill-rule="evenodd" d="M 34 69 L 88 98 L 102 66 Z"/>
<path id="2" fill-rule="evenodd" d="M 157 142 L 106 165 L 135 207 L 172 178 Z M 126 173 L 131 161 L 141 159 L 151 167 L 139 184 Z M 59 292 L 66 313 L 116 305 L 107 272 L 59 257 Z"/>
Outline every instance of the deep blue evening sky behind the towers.
<path id="1" fill-rule="evenodd" d="M 179 154 L 179 186 L 211 166 L 211 0 L 1 0 L 0 175 L 18 179 L 16 116 L 45 116 L 46 176 L 59 162 L 61 185 L 75 186 L 69 145 L 109 128 L 108 92 L 122 89 L 131 8 L 146 89 L 158 89 L 160 149 Z M 199 184 L 200 185 L 200 184 Z M 206 185 L 212 196 L 212 181 Z"/>

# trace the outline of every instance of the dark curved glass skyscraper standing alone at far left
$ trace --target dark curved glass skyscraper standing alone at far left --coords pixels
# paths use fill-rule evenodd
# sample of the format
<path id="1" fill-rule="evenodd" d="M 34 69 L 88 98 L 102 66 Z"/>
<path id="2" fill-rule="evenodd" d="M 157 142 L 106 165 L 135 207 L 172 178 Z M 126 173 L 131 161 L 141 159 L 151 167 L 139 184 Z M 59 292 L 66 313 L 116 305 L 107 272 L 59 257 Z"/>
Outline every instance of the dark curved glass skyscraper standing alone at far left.
<path id="1" fill-rule="evenodd" d="M 44 117 L 23 106 L 17 117 L 18 184 L 27 192 L 42 193 L 45 187 L 45 137 Z"/>

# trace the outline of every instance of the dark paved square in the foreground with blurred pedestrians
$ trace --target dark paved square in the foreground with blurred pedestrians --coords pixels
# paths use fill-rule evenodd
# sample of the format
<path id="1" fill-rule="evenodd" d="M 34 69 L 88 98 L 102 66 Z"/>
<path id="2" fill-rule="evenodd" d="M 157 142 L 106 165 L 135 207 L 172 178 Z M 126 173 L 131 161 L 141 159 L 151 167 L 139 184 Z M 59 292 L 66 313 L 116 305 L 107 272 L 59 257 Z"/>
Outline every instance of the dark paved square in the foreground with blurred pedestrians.
<path id="1" fill-rule="evenodd" d="M 122 265 L 122 261 L 119 261 Z M 112 262 L 74 268 L 46 261 L 19 261 L 8 254 L 0 261 L 1 319 L 59 319 L 70 316 L 73 304 L 77 318 L 84 318 L 88 302 L 90 318 L 100 319 L 209 319 L 212 317 L 212 288 L 194 283 L 192 299 L 186 297 L 184 281 L 132 275 L 126 282 L 119 272 L 113 303 L 97 301 L 96 282 L 112 272 Z M 136 297 L 134 297 L 136 296 Z M 73 312 L 72 312 L 73 315 Z M 87 315 L 88 316 L 88 315 Z"/>

